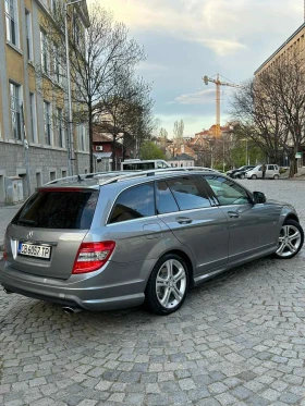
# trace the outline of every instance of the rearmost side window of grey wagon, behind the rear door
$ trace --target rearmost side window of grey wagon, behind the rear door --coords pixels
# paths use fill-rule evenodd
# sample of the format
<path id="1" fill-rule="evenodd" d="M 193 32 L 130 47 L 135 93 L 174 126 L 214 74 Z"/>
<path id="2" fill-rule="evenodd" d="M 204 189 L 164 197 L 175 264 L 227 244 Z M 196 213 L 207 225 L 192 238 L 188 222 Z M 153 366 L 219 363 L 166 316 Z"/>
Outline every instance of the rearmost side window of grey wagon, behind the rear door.
<path id="1" fill-rule="evenodd" d="M 131 187 L 118 197 L 109 223 L 155 216 L 154 184 Z"/>

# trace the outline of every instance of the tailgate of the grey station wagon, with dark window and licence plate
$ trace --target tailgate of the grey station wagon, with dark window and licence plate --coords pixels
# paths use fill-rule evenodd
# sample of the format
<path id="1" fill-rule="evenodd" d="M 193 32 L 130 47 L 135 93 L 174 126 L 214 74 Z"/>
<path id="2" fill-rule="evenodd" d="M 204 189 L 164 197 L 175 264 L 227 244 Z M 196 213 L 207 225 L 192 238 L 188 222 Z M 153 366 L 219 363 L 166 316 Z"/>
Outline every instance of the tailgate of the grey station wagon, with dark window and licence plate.
<path id="1" fill-rule="evenodd" d="M 42 187 L 8 227 L 7 261 L 19 271 L 68 279 L 90 229 L 99 190 Z"/>

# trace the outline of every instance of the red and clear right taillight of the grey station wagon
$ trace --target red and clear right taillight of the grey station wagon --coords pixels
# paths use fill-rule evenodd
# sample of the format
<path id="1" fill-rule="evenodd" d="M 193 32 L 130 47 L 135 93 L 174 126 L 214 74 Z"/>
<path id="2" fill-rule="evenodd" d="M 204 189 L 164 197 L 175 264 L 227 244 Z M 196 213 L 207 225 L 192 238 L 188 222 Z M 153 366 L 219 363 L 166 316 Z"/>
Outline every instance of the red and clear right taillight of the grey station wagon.
<path id="1" fill-rule="evenodd" d="M 87 273 L 101 268 L 110 258 L 115 243 L 82 243 L 78 249 L 72 273 Z"/>

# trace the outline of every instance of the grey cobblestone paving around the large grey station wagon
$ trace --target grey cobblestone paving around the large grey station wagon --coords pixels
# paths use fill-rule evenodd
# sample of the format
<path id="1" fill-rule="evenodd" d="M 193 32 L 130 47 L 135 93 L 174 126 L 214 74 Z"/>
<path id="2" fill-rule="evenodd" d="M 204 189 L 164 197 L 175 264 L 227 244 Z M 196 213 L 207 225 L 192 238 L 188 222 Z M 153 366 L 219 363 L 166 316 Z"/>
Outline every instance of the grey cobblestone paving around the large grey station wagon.
<path id="1" fill-rule="evenodd" d="M 305 182 L 242 181 L 293 204 Z M 305 406 L 305 251 L 193 290 L 180 311 L 65 315 L 0 293 L 0 405 Z"/>

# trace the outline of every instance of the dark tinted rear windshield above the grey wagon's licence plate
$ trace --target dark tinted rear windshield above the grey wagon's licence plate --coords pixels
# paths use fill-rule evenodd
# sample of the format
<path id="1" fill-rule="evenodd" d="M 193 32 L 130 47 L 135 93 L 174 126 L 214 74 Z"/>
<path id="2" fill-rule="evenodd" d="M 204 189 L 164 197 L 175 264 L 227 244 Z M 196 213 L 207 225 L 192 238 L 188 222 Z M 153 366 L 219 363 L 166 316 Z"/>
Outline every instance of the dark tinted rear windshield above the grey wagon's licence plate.
<path id="1" fill-rule="evenodd" d="M 41 229 L 88 230 L 98 190 L 36 192 L 12 223 Z"/>

